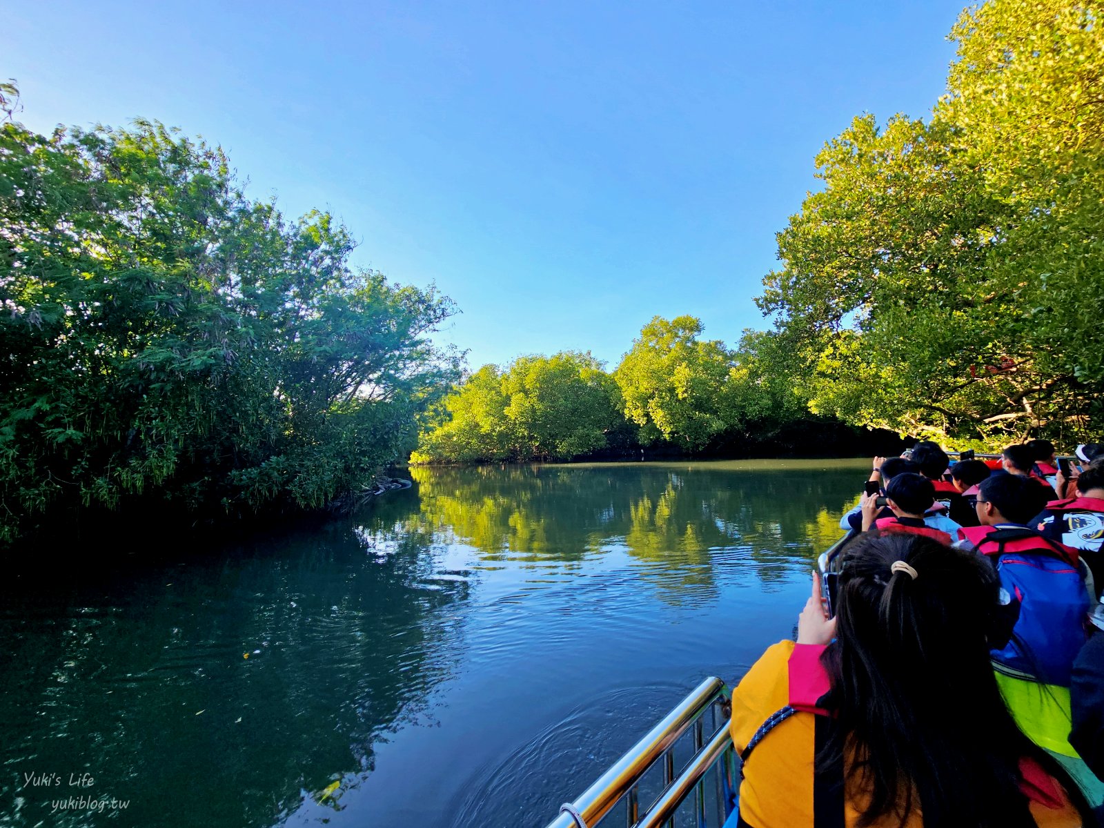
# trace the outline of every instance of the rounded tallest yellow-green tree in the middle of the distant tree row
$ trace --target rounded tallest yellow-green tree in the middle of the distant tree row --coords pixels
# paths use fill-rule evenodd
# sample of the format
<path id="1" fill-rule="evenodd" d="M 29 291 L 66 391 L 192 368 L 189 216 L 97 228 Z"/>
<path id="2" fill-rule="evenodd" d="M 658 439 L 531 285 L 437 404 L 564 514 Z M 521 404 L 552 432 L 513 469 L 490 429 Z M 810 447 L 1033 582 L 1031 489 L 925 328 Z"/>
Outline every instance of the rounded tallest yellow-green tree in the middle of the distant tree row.
<path id="1" fill-rule="evenodd" d="M 719 340 L 699 340 L 701 331 L 694 317 L 657 316 L 614 372 L 625 416 L 640 426 L 641 442 L 662 438 L 698 449 L 731 425 L 733 355 Z"/>

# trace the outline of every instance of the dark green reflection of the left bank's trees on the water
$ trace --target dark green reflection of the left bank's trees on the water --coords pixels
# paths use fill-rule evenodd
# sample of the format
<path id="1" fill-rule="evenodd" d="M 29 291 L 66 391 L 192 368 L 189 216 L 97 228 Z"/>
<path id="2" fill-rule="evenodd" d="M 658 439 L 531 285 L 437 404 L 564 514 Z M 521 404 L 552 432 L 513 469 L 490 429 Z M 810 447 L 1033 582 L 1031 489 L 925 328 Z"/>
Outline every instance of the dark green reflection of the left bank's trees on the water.
<path id="1" fill-rule="evenodd" d="M 0 825 L 270 825 L 304 797 L 336 805 L 376 741 L 433 721 L 464 635 L 470 584 L 435 566 L 404 500 L 125 577 L 9 584 Z M 71 788 L 81 772 L 94 784 Z M 28 786 L 39 773 L 63 782 Z M 79 794 L 128 806 L 51 814 Z"/>

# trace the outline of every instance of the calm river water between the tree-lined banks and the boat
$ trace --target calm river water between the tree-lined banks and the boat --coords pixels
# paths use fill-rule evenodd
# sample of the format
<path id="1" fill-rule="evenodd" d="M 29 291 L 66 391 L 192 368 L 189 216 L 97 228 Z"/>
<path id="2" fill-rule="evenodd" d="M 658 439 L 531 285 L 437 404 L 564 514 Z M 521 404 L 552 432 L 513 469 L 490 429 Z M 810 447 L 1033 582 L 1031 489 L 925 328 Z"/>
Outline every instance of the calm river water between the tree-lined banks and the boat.
<path id="1" fill-rule="evenodd" d="M 541 828 L 790 635 L 867 464 L 413 469 L 250 544 L 43 551 L 0 587 L 0 826 Z"/>

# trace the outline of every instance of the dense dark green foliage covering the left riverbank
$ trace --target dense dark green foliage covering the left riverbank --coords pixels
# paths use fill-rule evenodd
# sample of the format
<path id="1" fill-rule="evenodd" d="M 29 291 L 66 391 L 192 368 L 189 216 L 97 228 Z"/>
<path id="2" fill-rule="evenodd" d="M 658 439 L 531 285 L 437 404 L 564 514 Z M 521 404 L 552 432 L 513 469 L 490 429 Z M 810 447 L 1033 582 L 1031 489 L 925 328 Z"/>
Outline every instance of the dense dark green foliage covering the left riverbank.
<path id="1" fill-rule="evenodd" d="M 318 507 L 413 446 L 457 376 L 432 288 L 325 213 L 244 197 L 159 124 L 0 130 L 0 540 L 52 507 Z"/>

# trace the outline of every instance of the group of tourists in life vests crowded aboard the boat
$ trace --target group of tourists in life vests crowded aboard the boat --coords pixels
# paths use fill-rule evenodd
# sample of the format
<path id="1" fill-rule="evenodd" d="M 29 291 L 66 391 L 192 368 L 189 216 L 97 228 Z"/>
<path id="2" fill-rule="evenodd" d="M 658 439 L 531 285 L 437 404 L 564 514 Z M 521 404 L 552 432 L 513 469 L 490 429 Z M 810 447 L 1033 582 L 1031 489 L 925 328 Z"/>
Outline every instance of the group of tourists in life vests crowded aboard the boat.
<path id="1" fill-rule="evenodd" d="M 732 696 L 735 825 L 1104 826 L 1104 445 L 875 457 Z"/>

